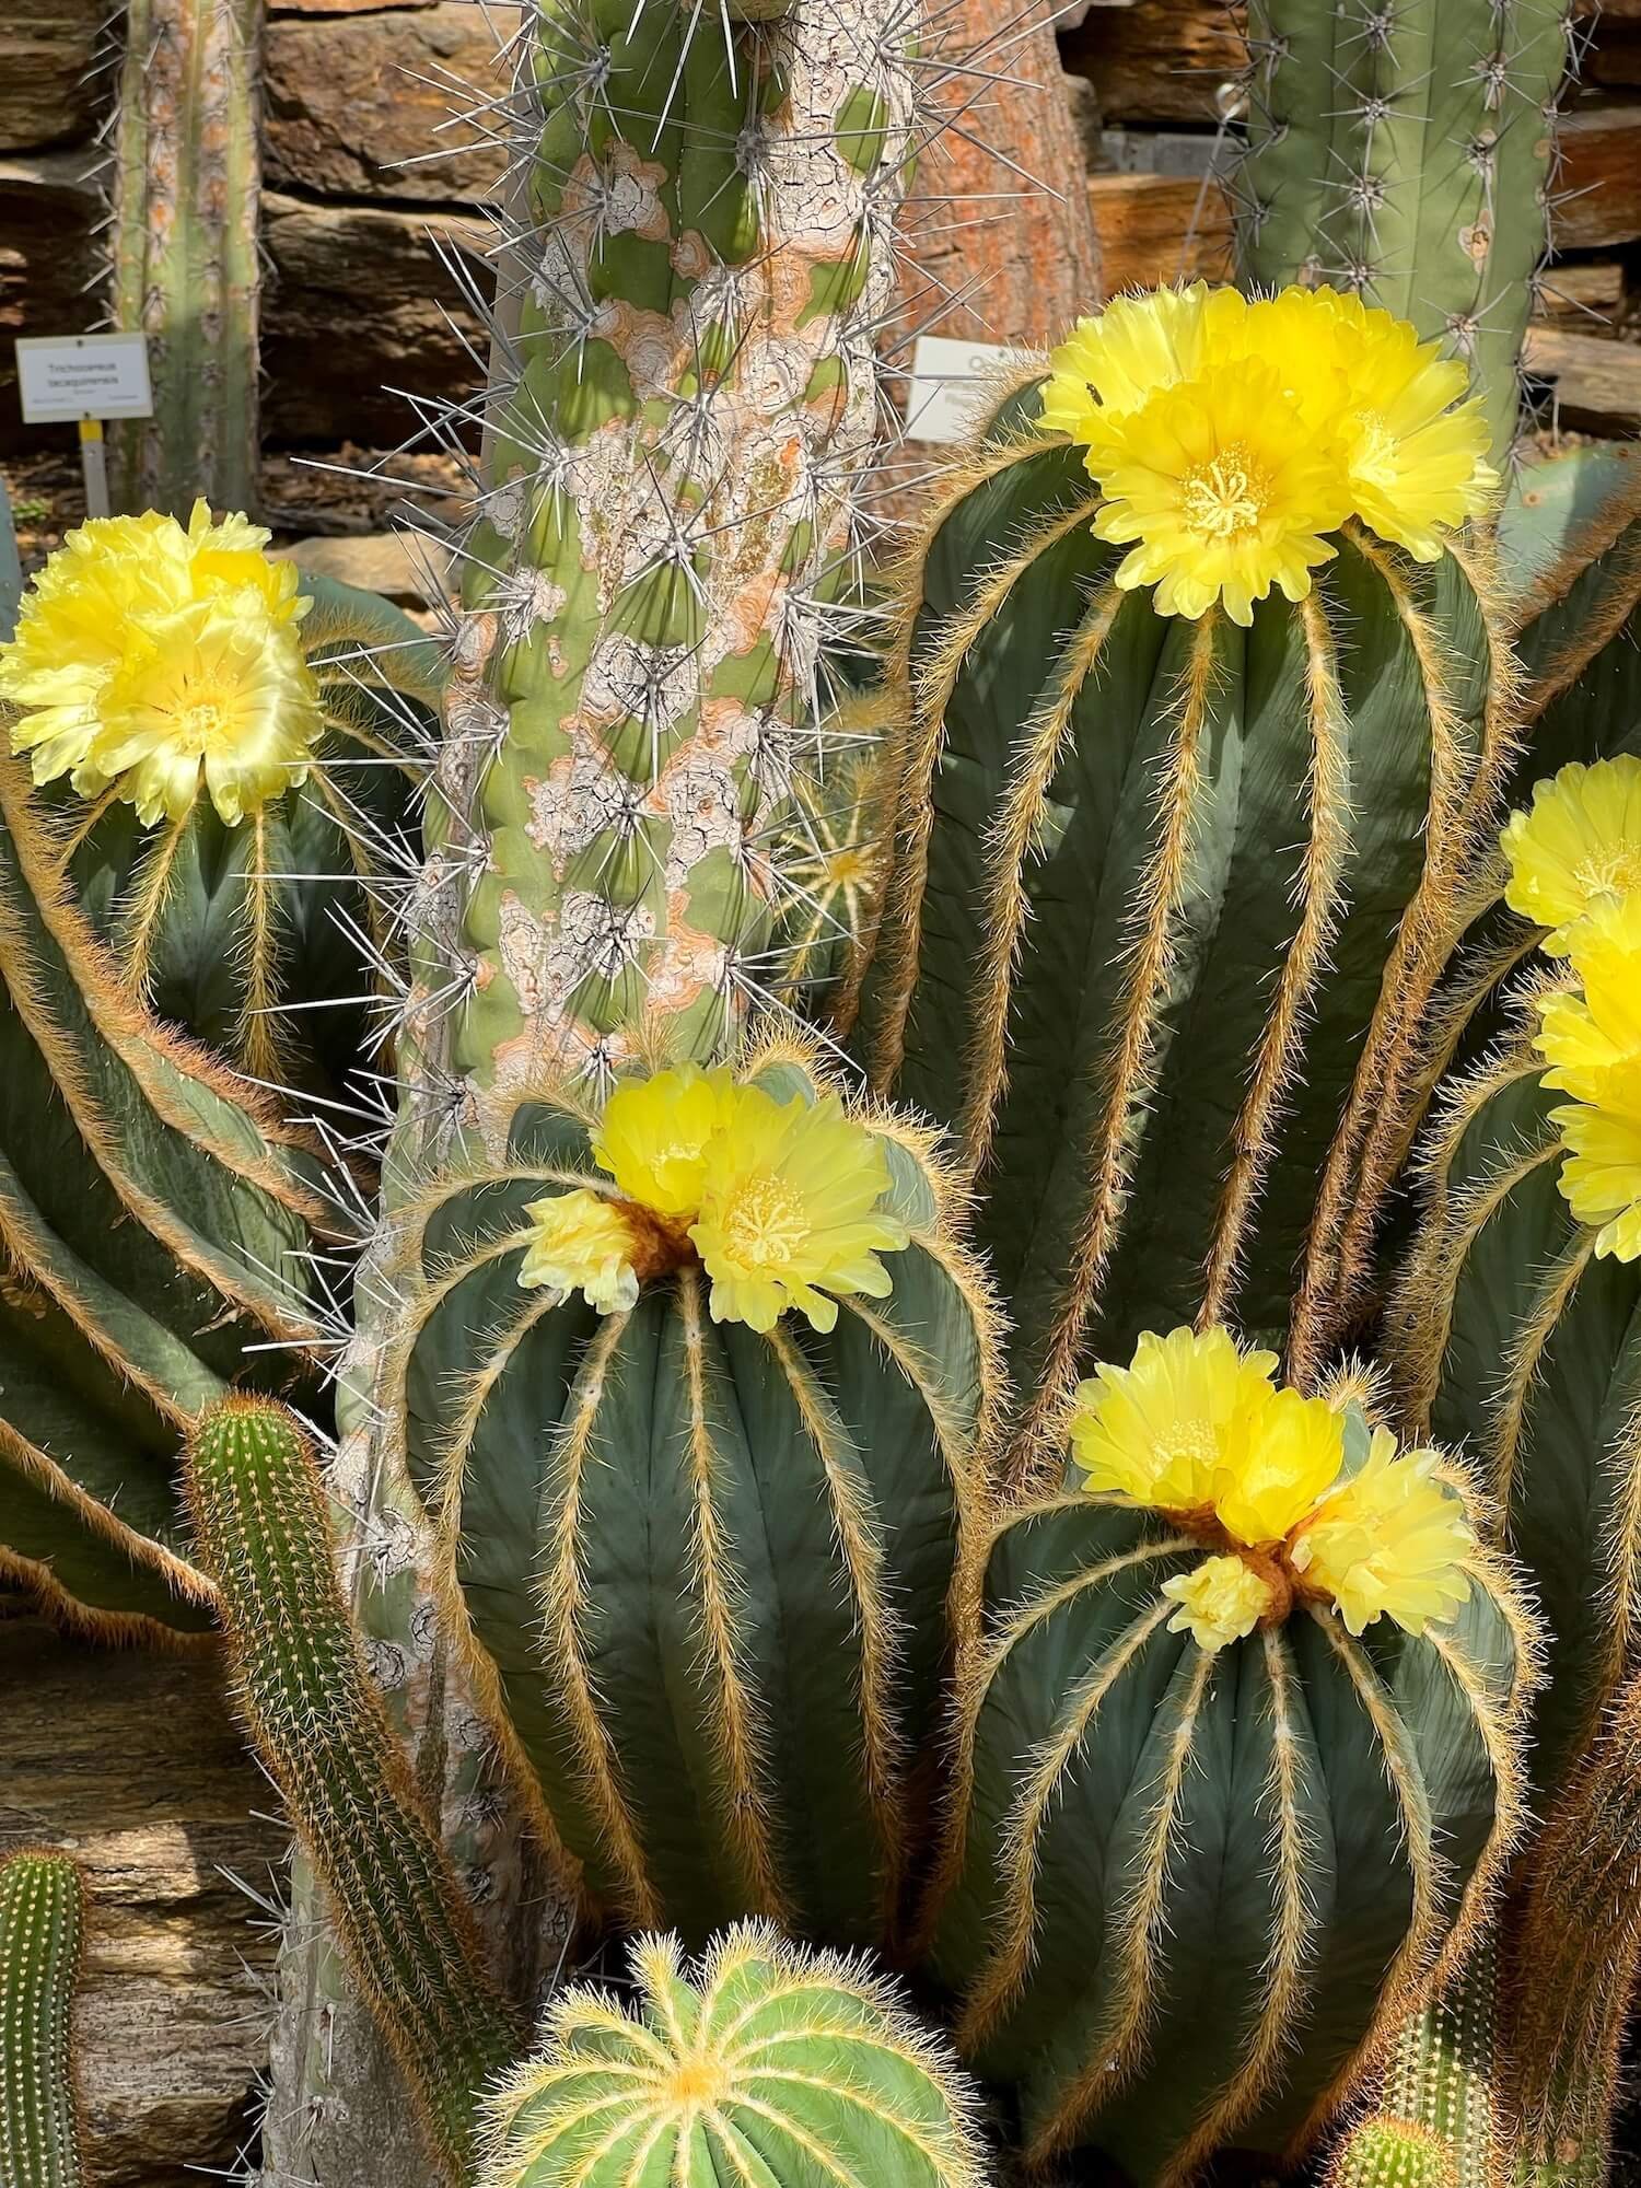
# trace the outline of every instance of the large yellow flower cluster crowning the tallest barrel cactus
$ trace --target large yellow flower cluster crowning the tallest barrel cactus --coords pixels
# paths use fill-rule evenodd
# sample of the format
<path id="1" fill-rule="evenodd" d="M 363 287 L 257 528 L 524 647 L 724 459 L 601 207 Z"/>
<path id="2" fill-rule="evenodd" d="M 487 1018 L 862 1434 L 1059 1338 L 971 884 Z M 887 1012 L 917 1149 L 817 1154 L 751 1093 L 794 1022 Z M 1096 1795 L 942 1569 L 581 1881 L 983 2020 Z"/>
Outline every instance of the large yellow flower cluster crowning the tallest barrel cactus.
<path id="1" fill-rule="evenodd" d="M 1433 562 L 1499 490 L 1466 368 L 1335 289 L 1120 295 L 1048 368 L 1039 422 L 1087 451 L 1116 582 L 1162 615 L 1304 600 L 1348 516 Z"/>

